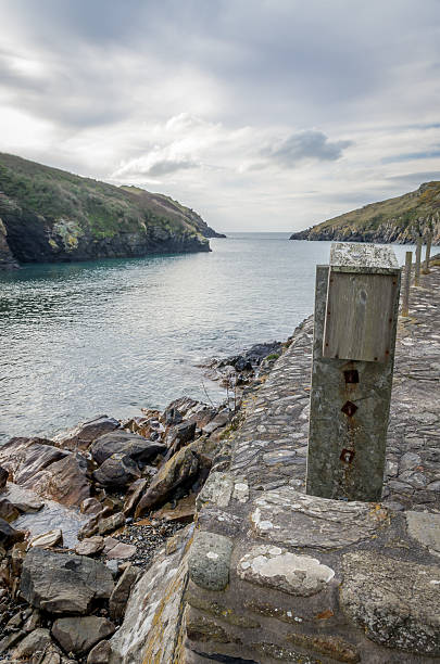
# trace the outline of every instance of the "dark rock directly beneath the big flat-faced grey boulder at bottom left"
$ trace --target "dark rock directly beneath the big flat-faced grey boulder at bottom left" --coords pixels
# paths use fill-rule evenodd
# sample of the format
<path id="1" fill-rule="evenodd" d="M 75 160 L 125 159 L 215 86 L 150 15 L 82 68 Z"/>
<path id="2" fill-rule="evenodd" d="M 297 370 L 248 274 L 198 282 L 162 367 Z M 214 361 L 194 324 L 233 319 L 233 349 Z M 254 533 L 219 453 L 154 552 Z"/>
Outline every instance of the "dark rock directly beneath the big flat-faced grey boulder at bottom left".
<path id="1" fill-rule="evenodd" d="M 98 641 L 111 636 L 115 630 L 113 623 L 104 617 L 62 617 L 52 625 L 52 636 L 67 653 L 83 655 Z"/>

